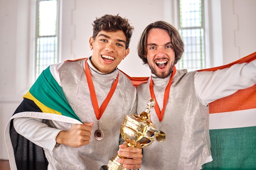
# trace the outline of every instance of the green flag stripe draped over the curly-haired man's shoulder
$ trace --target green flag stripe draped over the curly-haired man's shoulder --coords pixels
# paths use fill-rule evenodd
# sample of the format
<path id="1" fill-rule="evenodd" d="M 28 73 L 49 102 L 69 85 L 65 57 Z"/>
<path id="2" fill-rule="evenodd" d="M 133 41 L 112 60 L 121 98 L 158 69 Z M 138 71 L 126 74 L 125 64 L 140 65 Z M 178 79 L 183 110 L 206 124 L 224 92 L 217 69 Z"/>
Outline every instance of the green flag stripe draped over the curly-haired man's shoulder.
<path id="1" fill-rule="evenodd" d="M 81 121 L 70 107 L 62 87 L 52 76 L 49 67 L 40 74 L 29 92 L 43 105 L 60 112 L 64 116 Z"/>

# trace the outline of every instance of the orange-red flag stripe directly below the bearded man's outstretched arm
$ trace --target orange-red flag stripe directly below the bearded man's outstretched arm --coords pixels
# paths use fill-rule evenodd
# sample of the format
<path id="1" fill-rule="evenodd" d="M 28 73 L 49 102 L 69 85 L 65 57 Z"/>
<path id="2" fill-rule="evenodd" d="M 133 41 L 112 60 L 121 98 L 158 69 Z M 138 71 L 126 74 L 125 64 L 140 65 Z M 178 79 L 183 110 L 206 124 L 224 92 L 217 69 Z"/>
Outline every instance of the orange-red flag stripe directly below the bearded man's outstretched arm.
<path id="1" fill-rule="evenodd" d="M 210 113 L 223 113 L 256 108 L 256 85 L 209 103 Z"/>

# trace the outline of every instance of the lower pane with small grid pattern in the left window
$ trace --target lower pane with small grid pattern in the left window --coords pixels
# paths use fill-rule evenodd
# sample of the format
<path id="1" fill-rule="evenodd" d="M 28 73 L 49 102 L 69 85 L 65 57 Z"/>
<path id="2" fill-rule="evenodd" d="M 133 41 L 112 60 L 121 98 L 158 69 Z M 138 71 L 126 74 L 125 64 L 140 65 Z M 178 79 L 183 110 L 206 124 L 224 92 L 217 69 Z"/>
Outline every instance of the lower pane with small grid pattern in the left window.
<path id="1" fill-rule="evenodd" d="M 37 39 L 36 75 L 38 76 L 50 64 L 57 61 L 57 37 L 40 37 Z"/>

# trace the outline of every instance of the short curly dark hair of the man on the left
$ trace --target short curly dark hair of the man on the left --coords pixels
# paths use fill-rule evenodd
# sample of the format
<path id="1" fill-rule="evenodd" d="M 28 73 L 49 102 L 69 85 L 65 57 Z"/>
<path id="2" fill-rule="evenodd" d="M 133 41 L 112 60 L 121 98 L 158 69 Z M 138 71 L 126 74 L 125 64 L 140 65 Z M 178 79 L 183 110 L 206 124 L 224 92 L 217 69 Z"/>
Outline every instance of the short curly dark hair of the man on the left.
<path id="1" fill-rule="evenodd" d="M 126 36 L 126 49 L 129 47 L 130 39 L 132 37 L 132 33 L 134 27 L 130 25 L 128 19 L 120 17 L 117 15 L 104 15 L 102 17 L 96 17 L 96 20 L 92 23 L 93 26 L 93 35 L 92 38 L 98 35 L 100 31 L 106 32 L 115 32 L 121 30 L 124 32 Z"/>

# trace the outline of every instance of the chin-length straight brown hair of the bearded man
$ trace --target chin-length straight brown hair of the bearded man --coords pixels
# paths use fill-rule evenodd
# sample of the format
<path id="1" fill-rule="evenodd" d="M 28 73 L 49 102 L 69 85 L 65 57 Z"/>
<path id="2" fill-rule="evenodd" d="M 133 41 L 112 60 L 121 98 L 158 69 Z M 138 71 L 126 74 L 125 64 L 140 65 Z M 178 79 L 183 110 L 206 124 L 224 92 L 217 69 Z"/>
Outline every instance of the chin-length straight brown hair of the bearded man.
<path id="1" fill-rule="evenodd" d="M 166 30 L 171 38 L 171 42 L 173 45 L 173 49 L 175 51 L 175 61 L 174 65 L 181 59 L 182 54 L 184 52 L 184 42 L 177 31 L 177 29 L 172 26 L 171 24 L 164 22 L 164 21 L 157 21 L 154 23 L 149 24 L 141 34 L 139 38 L 139 43 L 137 46 L 138 55 L 144 62 L 144 64 L 147 64 L 148 61 L 146 59 L 147 56 L 147 41 L 148 41 L 148 33 L 152 28 L 160 28 Z"/>

